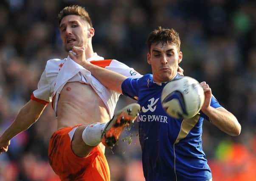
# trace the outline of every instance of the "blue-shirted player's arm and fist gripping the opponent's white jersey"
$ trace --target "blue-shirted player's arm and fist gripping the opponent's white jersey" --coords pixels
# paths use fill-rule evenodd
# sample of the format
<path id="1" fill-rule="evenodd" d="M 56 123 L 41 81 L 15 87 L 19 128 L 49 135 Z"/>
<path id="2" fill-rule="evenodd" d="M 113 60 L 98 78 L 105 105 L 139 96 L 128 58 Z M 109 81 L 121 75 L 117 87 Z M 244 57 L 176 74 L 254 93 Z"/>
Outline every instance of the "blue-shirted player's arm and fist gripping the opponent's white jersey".
<path id="1" fill-rule="evenodd" d="M 126 76 L 98 67 L 86 61 L 84 47 L 73 47 L 72 51 L 75 52 L 76 55 L 72 52 L 69 52 L 68 55 L 73 61 L 76 61 L 76 63 L 89 70 L 91 74 L 108 89 L 122 93 L 121 84 L 127 78 Z"/>

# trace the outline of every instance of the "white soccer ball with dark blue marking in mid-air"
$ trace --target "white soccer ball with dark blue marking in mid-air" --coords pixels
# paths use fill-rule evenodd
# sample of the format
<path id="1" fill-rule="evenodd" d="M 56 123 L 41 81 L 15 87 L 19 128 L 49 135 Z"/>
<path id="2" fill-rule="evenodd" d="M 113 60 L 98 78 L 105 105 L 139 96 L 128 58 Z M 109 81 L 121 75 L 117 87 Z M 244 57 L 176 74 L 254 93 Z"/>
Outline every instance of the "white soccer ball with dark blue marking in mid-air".
<path id="1" fill-rule="evenodd" d="M 177 119 L 194 117 L 202 108 L 204 100 L 203 87 L 188 76 L 170 81 L 163 87 L 161 94 L 163 109 Z"/>

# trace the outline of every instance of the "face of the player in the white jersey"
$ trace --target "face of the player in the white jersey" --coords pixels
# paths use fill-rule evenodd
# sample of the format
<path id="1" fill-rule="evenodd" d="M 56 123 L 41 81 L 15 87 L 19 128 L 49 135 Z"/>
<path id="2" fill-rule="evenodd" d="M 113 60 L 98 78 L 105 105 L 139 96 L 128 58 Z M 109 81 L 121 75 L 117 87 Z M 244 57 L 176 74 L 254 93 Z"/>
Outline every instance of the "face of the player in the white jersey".
<path id="1" fill-rule="evenodd" d="M 59 26 L 61 39 L 68 52 L 73 46 L 86 47 L 91 37 L 89 24 L 77 15 L 65 16 Z"/>

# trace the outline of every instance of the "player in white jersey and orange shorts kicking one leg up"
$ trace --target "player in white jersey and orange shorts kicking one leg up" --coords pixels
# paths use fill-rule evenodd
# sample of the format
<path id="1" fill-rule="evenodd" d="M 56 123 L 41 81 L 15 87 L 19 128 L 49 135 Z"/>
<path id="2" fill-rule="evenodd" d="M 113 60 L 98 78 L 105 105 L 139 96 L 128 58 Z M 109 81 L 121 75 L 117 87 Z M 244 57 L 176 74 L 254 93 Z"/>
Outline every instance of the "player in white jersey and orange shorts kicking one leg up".
<path id="1" fill-rule="evenodd" d="M 92 64 L 125 76 L 141 77 L 127 65 L 117 60 L 104 60 L 93 51 L 94 28 L 84 8 L 68 6 L 58 18 L 67 52 L 73 46 L 84 47 L 87 61 Z M 34 124 L 51 102 L 58 124 L 51 136 L 48 156 L 55 173 L 63 181 L 110 181 L 103 145 L 113 147 L 123 128 L 140 110 L 140 106 L 133 103 L 114 115 L 119 95 L 104 87 L 69 56 L 48 60 L 38 89 L 0 136 L 0 153 L 7 151 L 10 140 Z"/>

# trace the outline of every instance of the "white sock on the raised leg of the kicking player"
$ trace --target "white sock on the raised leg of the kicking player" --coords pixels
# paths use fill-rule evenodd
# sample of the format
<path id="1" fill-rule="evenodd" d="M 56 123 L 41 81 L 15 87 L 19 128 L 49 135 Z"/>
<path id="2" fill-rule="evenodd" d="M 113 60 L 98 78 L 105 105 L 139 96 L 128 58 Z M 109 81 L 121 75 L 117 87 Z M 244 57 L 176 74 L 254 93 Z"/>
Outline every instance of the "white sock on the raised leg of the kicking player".
<path id="1" fill-rule="evenodd" d="M 107 123 L 92 123 L 87 125 L 82 133 L 86 145 L 96 146 L 101 142 L 101 134 Z"/>

